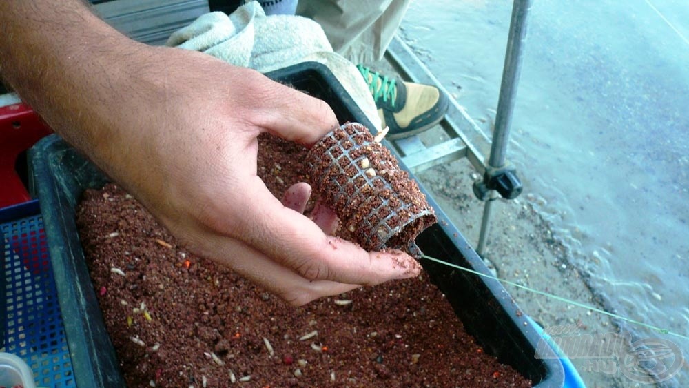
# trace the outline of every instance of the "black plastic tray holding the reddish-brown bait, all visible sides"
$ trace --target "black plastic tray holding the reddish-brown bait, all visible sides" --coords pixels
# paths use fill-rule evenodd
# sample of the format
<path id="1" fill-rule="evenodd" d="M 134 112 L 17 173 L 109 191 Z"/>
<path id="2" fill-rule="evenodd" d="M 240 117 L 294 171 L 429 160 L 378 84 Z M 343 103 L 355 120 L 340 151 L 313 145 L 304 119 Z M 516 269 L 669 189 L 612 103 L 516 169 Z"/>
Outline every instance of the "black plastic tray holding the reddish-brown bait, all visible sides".
<path id="1" fill-rule="evenodd" d="M 326 101 L 340 122 L 358 121 L 371 127 L 324 65 L 301 63 L 268 75 Z M 124 386 L 85 264 L 74 215 L 83 190 L 102 187 L 107 178 L 56 135 L 34 146 L 30 159 L 32 190 L 41 201 L 76 384 L 79 387 Z M 428 195 L 424 187 L 422 191 Z M 430 196 L 429 200 L 439 222 L 417 238 L 422 251 L 489 274 L 464 236 Z M 466 331 L 486 351 L 530 378 L 534 385 L 562 387 L 562 364 L 559 360 L 535 358 L 541 336 L 526 323 L 526 316 L 522 316 L 500 283 L 431 261 L 424 260 L 422 264 L 433 283 L 446 294 Z M 440 364 L 443 360 L 437 361 Z"/>

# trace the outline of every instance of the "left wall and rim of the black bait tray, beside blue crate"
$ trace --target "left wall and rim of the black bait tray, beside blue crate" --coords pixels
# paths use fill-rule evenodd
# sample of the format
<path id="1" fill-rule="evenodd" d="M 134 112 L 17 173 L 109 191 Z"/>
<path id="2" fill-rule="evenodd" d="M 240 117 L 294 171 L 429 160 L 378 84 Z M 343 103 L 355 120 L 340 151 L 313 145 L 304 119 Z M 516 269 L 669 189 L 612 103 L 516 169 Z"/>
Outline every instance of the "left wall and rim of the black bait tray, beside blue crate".
<path id="1" fill-rule="evenodd" d="M 60 159 L 68 148 L 59 136 L 50 135 L 34 145 L 29 154 L 30 179 L 41 201 L 74 381 L 77 387 L 125 387 L 81 249 L 76 198 L 65 182 L 56 178 L 51 163 L 51 158 Z"/>

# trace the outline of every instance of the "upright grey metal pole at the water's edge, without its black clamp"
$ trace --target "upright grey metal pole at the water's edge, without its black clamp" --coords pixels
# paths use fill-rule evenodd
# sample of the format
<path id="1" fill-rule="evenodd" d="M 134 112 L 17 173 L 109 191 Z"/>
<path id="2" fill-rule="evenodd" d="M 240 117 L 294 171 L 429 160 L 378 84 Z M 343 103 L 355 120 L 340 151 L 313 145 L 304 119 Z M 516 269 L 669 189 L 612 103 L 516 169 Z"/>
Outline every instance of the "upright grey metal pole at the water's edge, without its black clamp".
<path id="1" fill-rule="evenodd" d="M 500 168 L 505 164 L 507 144 L 510 137 L 512 113 L 517 94 L 517 83 L 522 70 L 522 43 L 526 36 L 526 14 L 531 8 L 531 0 L 515 0 L 512 6 L 512 19 L 510 21 L 510 33 L 505 50 L 505 64 L 502 68 L 502 84 L 500 85 L 500 99 L 497 101 L 497 114 L 495 114 L 495 129 L 491 142 L 491 156 L 488 161 L 489 168 Z M 483 221 L 479 236 L 477 252 L 484 254 L 488 231 L 491 220 L 491 203 L 495 196 L 489 195 L 484 205 Z"/>

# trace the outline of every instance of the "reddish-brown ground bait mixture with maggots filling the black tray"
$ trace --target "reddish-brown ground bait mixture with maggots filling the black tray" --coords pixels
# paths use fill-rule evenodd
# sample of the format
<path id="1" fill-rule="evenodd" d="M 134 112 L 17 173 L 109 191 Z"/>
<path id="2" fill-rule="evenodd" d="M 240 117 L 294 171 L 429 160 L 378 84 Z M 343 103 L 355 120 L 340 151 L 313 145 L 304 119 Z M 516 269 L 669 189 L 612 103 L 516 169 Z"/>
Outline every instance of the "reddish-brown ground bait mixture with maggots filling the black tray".
<path id="1" fill-rule="evenodd" d="M 276 196 L 305 180 L 305 152 L 260 136 L 258 174 Z M 129 387 L 530 386 L 423 273 L 295 308 L 189 254 L 115 185 L 85 192 L 77 218 Z"/>

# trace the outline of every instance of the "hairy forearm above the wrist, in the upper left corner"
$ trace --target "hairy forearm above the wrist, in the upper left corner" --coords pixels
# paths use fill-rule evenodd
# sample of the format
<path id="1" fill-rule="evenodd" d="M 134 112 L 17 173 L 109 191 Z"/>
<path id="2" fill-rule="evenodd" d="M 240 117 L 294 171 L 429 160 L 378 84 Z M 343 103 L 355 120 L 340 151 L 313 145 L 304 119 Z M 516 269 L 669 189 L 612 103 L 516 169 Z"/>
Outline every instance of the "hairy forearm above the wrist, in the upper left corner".
<path id="1" fill-rule="evenodd" d="M 76 0 L 0 2 L 0 37 L 3 78 L 58 129 L 67 123 L 51 111 L 81 105 L 123 40 Z"/>

